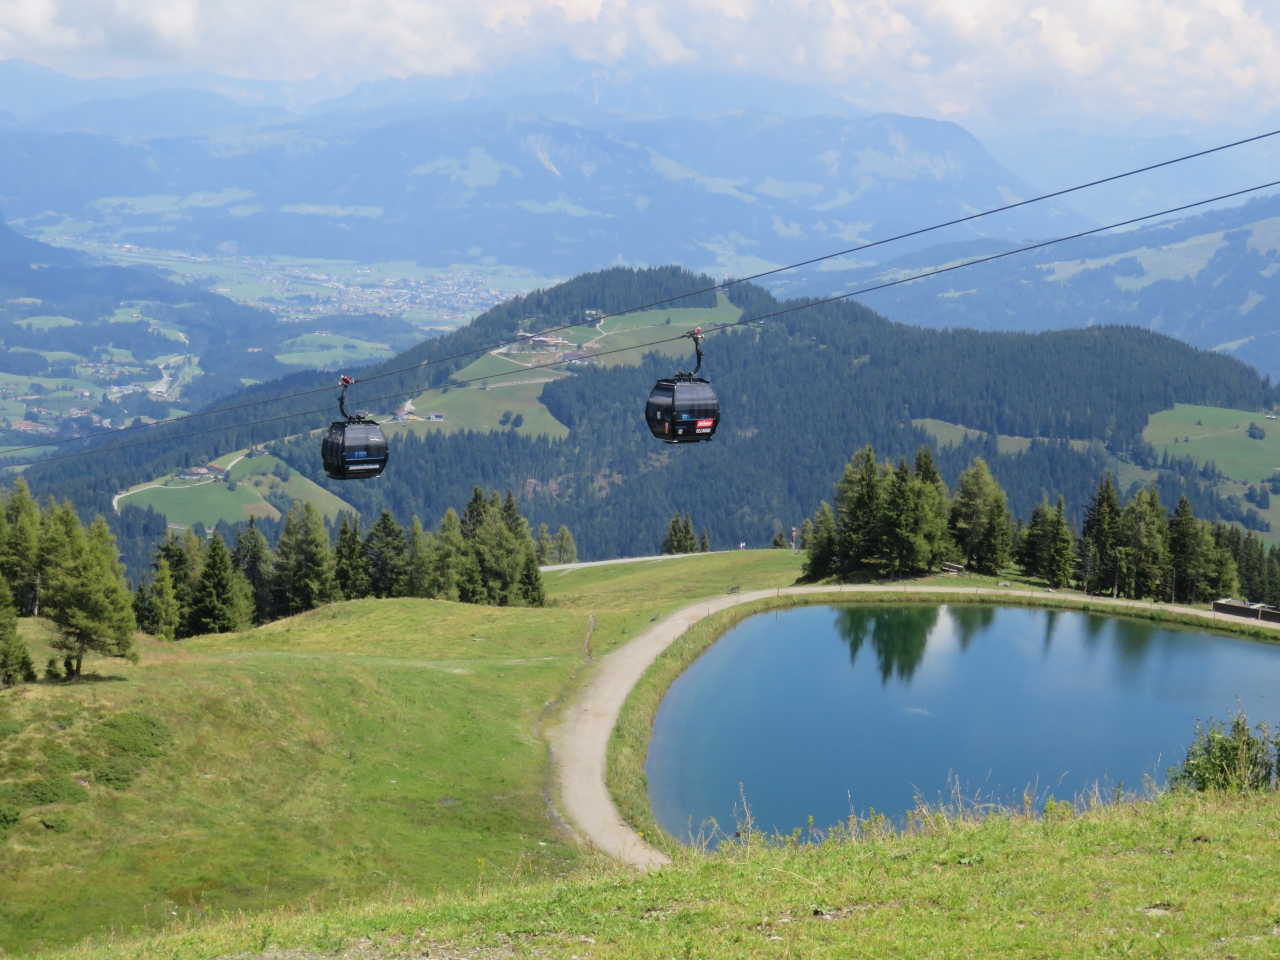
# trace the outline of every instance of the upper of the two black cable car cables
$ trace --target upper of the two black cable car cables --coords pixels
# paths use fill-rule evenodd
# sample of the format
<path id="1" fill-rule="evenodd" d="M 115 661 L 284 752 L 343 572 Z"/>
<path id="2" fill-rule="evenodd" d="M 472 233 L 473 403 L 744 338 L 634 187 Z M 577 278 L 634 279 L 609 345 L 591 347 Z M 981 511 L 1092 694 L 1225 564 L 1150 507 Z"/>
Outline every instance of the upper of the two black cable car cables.
<path id="1" fill-rule="evenodd" d="M 1080 184 L 1076 184 L 1074 187 L 1066 187 L 1064 189 L 1053 191 L 1051 193 L 1042 193 L 1039 196 L 1030 197 L 1029 200 L 1019 200 L 1019 201 L 1016 201 L 1014 204 L 1006 204 L 1005 206 L 997 206 L 997 207 L 992 207 L 989 210 L 980 210 L 977 214 L 969 214 L 966 216 L 961 216 L 961 218 L 957 218 L 955 220 L 946 220 L 943 223 L 937 223 L 937 224 L 933 224 L 931 227 L 922 227 L 922 228 L 915 229 L 915 230 L 909 230 L 906 233 L 900 233 L 900 234 L 896 234 L 893 237 L 886 237 L 883 239 L 870 241 L 868 243 L 863 243 L 863 244 L 859 244 L 859 246 L 855 246 L 855 247 L 849 247 L 846 250 L 836 251 L 835 253 L 824 253 L 823 256 L 819 256 L 819 257 L 813 257 L 810 260 L 801 260 L 799 262 L 787 264 L 785 266 L 772 268 L 772 269 L 764 270 L 762 273 L 750 274 L 749 276 L 739 276 L 739 278 L 735 278 L 735 279 L 724 280 L 723 283 L 718 283 L 718 284 L 716 284 L 713 287 L 704 287 L 704 288 L 698 289 L 698 291 L 690 291 L 689 293 L 681 293 L 678 297 L 667 297 L 666 300 L 655 300 L 655 301 L 650 301 L 648 303 L 643 303 L 643 305 L 639 305 L 639 306 L 635 306 L 635 307 L 627 307 L 626 310 L 620 310 L 620 311 L 617 311 L 614 314 L 604 314 L 602 316 L 591 317 L 590 320 L 579 320 L 579 321 L 575 321 L 572 324 L 563 324 L 561 326 L 552 326 L 552 328 L 548 328 L 545 330 L 541 330 L 540 333 L 543 333 L 543 334 L 558 333 L 561 330 L 568 330 L 568 329 L 572 329 L 575 326 L 582 326 L 582 325 L 585 325 L 588 323 L 598 324 L 602 320 L 611 320 L 613 317 L 626 316 L 627 314 L 636 314 L 636 312 L 640 312 L 643 310 L 653 310 L 654 307 L 660 307 L 660 306 L 664 306 L 667 303 L 675 303 L 676 301 L 686 300 L 689 297 L 696 297 L 696 296 L 699 296 L 701 293 L 714 293 L 716 291 L 727 289 L 728 287 L 732 287 L 735 284 L 749 283 L 751 280 L 758 280 L 762 276 L 772 276 L 773 274 L 785 273 L 787 270 L 797 270 L 801 266 L 812 266 L 813 264 L 820 264 L 820 262 L 823 262 L 826 260 L 833 260 L 835 257 L 847 256 L 849 253 L 856 253 L 856 252 L 860 252 L 860 251 L 864 251 L 864 250 L 870 250 L 872 247 L 884 246 L 886 243 L 893 243 L 893 242 L 900 241 L 900 239 L 909 239 L 911 237 L 920 237 L 923 234 L 932 233 L 934 230 L 941 230 L 941 229 L 945 229 L 947 227 L 956 227 L 956 225 L 960 225 L 960 224 L 964 224 L 964 223 L 970 223 L 973 220 L 978 220 L 978 219 L 982 219 L 984 216 L 992 216 L 995 214 L 1006 212 L 1009 210 L 1015 210 L 1018 207 L 1029 206 L 1030 204 L 1039 204 L 1039 202 L 1042 202 L 1044 200 L 1053 200 L 1056 197 L 1062 197 L 1062 196 L 1066 196 L 1069 193 L 1076 193 L 1076 192 L 1079 192 L 1082 189 L 1089 189 L 1092 187 L 1100 187 L 1100 186 L 1106 184 L 1106 183 L 1115 183 L 1116 180 L 1123 180 L 1123 179 L 1125 179 L 1128 177 L 1137 177 L 1140 173 L 1149 173 L 1152 170 L 1158 170 L 1158 169 L 1165 168 L 1165 166 L 1172 166 L 1175 164 L 1185 163 L 1188 160 L 1196 160 L 1196 159 L 1202 157 L 1202 156 L 1210 156 L 1211 154 L 1220 154 L 1220 152 L 1222 152 L 1225 150 L 1233 150 L 1235 147 L 1245 146 L 1248 143 L 1256 143 L 1258 141 L 1267 140 L 1268 137 L 1275 137 L 1277 134 L 1280 134 L 1280 129 L 1268 131 L 1266 133 L 1258 133 L 1258 134 L 1256 134 L 1253 137 L 1245 137 L 1244 140 L 1231 141 L 1230 143 L 1221 143 L 1221 145 L 1219 145 L 1216 147 L 1208 147 L 1207 150 L 1198 150 L 1198 151 L 1196 151 L 1193 154 L 1184 154 L 1183 156 L 1171 157 L 1169 160 L 1161 160 L 1160 163 L 1148 164 L 1147 166 L 1138 166 L 1138 168 L 1135 168 L 1133 170 L 1125 170 L 1124 173 L 1117 173 L 1117 174 L 1112 174 L 1110 177 L 1103 177 L 1101 179 L 1089 180 L 1088 183 L 1080 183 Z M 1263 189 L 1263 188 L 1262 187 L 1254 187 L 1253 189 Z M 1249 192 L 1249 191 L 1245 191 L 1245 192 Z M 1213 202 L 1213 201 L 1206 201 L 1206 202 Z M 1166 212 L 1172 212 L 1172 211 L 1166 211 Z M 1156 216 L 1160 216 L 1160 215 L 1161 214 L 1156 214 Z M 1107 228 L 1107 229 L 1110 229 L 1110 228 Z M 1061 242 L 1061 241 L 1055 241 L 1055 242 Z M 516 338 L 513 340 L 499 340 L 498 343 L 492 343 L 492 344 L 489 344 L 486 347 L 476 347 L 474 349 L 465 351 L 462 353 L 454 353 L 454 355 L 448 356 L 448 357 L 436 357 L 435 360 L 428 360 L 428 361 L 424 361 L 421 364 L 415 364 L 415 365 L 407 366 L 407 367 L 399 367 L 397 370 L 388 370 L 387 372 L 374 374 L 372 376 L 357 378 L 355 380 L 355 383 L 367 383 L 370 380 L 380 380 L 380 379 L 383 379 L 385 376 L 394 376 L 396 374 L 407 374 L 407 372 L 411 372 L 413 370 L 422 370 L 422 369 L 429 367 L 429 366 L 435 366 L 436 364 L 447 364 L 451 360 L 462 360 L 465 357 L 470 357 L 470 356 L 474 356 L 476 353 L 488 353 L 492 349 L 498 349 L 499 347 L 507 347 L 507 346 L 511 346 L 511 344 L 515 344 L 515 343 L 520 343 L 520 338 Z M 188 413 L 188 415 L 182 416 L 182 417 L 166 417 L 164 420 L 155 420 L 155 421 L 152 421 L 150 424 L 141 424 L 138 426 L 127 426 L 127 428 L 123 428 L 122 430 L 114 430 L 113 433 L 118 434 L 118 433 L 125 433 L 125 431 L 129 431 L 129 430 L 141 430 L 141 429 L 148 428 L 148 426 L 159 426 L 159 425 L 164 425 L 164 424 L 177 424 L 177 422 L 183 421 L 183 420 L 193 420 L 196 417 L 212 416 L 214 413 L 227 413 L 227 412 L 233 411 L 233 410 L 243 410 L 246 407 L 256 407 L 256 406 L 260 406 L 262 403 L 278 403 L 280 401 L 293 399 L 296 397 L 310 397 L 310 396 L 312 396 L 315 393 L 324 393 L 324 392 L 329 390 L 329 389 L 332 389 L 332 388 L 330 387 L 317 387 L 317 388 L 315 388 L 312 390 L 298 390 L 297 393 L 287 393 L 287 394 L 283 394 L 283 396 L 279 396 L 279 397 L 266 397 L 264 399 L 247 401 L 244 403 L 236 403 L 236 404 L 232 404 L 232 406 L 228 406 L 228 407 L 215 407 L 214 410 L 202 410 L 202 411 L 197 411 L 195 413 Z M 264 421 L 264 422 L 269 422 L 269 421 Z M 223 428 L 223 429 L 229 429 L 229 428 Z M 12 453 L 12 452 L 15 452 L 15 451 L 41 449 L 41 448 L 45 448 L 45 447 L 58 447 L 58 445 L 64 444 L 64 443 L 73 443 L 76 440 L 86 440 L 86 439 L 90 439 L 90 438 L 93 438 L 93 436 L 104 436 L 104 435 L 105 434 L 88 434 L 87 436 L 68 436 L 68 438 L 64 438 L 64 439 L 60 439 L 60 440 L 49 440 L 46 443 L 28 443 L 28 444 L 23 444 L 23 445 L 19 445 L 19 447 L 10 447 L 8 452 Z"/>

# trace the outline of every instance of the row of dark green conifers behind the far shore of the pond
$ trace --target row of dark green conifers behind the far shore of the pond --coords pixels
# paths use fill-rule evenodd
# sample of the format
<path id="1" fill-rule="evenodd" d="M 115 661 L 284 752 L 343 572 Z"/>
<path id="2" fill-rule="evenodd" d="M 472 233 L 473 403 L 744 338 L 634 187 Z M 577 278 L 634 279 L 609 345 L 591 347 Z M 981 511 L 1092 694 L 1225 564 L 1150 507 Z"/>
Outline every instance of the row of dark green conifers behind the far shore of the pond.
<path id="1" fill-rule="evenodd" d="M 878 462 L 858 451 L 826 500 L 805 520 L 800 544 L 809 580 L 872 572 L 911 576 L 943 563 L 998 575 L 1016 562 L 1051 586 L 1170 603 L 1243 596 L 1280 605 L 1280 545 L 1256 532 L 1196 517 L 1183 495 L 1174 511 L 1156 486 L 1124 502 L 1103 474 L 1073 527 L 1062 497 L 1042 499 L 1015 524 L 1007 498 L 978 457 L 947 489 L 928 447 L 914 463 Z"/>

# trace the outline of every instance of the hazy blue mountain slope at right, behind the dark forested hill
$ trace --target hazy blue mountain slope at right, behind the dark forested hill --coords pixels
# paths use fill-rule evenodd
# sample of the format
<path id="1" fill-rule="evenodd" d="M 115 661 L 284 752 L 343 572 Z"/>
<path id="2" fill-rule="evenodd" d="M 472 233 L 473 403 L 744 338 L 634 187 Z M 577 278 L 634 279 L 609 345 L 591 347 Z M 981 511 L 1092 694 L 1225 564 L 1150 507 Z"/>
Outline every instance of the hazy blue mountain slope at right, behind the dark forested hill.
<path id="1" fill-rule="evenodd" d="M 950 243 L 850 270 L 858 289 L 1016 244 Z M 827 292 L 831 275 L 788 275 L 786 296 Z M 1132 324 L 1216 349 L 1280 380 L 1280 197 L 922 279 L 861 297 L 902 323 L 977 330 Z"/>

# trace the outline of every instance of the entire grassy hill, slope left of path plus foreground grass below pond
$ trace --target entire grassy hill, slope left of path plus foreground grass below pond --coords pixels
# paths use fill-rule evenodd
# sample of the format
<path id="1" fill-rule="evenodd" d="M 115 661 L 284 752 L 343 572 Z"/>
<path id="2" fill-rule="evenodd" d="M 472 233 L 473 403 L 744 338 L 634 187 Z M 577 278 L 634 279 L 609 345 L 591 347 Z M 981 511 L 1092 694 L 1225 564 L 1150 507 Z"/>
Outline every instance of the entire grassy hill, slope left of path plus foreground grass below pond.
<path id="1" fill-rule="evenodd" d="M 689 603 L 691 584 L 781 586 L 797 559 L 549 572 L 543 609 L 337 604 L 146 643 L 138 664 L 96 660 L 81 685 L 0 691 L 0 790 L 63 791 L 0 828 L 0 946 L 83 960 L 1270 955 L 1274 792 L 938 810 L 908 832 L 872 817 L 677 850 L 649 874 L 568 842 L 540 733 L 588 654 Z M 23 628 L 42 655 L 41 622 Z M 161 736 L 125 782 L 102 744 L 146 718 Z"/>

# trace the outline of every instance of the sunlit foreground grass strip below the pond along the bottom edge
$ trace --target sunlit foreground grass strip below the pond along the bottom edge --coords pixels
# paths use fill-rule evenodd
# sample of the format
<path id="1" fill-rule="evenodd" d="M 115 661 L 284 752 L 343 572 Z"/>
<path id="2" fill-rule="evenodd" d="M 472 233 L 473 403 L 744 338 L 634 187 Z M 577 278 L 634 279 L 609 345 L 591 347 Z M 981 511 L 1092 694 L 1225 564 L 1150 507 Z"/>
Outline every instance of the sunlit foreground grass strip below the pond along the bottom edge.
<path id="1" fill-rule="evenodd" d="M 413 901 L 172 923 L 77 957 L 1263 957 L 1276 955 L 1275 795 L 1180 796 L 1043 820 L 593 863 Z"/>

